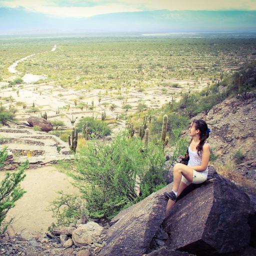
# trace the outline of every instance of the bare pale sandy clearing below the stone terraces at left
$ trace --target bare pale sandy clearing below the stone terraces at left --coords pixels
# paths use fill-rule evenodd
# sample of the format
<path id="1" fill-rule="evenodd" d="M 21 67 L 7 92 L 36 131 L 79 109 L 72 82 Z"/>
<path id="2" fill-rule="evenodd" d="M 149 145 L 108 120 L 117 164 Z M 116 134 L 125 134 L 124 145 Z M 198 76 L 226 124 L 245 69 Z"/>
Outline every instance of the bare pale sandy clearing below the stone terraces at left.
<path id="1" fill-rule="evenodd" d="M 21 187 L 26 193 L 9 210 L 6 219 L 15 217 L 12 223 L 15 232 L 30 238 L 47 231 L 47 227 L 54 222 L 52 212 L 45 209 L 58 196 L 56 191 L 63 190 L 73 194 L 79 194 L 79 191 L 70 184 L 71 178 L 57 171 L 54 165 L 27 169 L 25 173 Z M 0 180 L 3 176 L 4 171 L 1 171 Z"/>

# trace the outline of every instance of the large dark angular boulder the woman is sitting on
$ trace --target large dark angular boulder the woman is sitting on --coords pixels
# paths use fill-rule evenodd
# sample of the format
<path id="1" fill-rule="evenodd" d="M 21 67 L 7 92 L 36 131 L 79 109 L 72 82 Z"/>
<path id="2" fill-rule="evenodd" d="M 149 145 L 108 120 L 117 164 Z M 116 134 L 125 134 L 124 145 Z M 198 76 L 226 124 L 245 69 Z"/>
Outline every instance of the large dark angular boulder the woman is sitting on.
<path id="1" fill-rule="evenodd" d="M 184 191 L 185 192 L 185 191 Z M 196 255 L 235 252 L 248 246 L 250 198 L 228 179 L 213 175 L 176 201 L 163 222 L 168 249 Z"/>

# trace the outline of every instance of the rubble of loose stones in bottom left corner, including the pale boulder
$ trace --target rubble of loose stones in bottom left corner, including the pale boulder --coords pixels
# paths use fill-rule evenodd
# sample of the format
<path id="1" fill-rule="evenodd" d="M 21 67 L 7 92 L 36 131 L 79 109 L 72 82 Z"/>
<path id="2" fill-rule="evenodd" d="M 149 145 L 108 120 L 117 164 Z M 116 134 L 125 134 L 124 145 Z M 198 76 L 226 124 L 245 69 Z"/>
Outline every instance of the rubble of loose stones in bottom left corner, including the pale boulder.
<path id="1" fill-rule="evenodd" d="M 98 221 L 98 223 L 94 222 Z M 105 245 L 107 222 L 80 218 L 69 227 L 58 227 L 45 235 L 26 240 L 19 235 L 0 239 L 0 255 L 96 256 Z M 85 223 L 86 222 L 86 223 Z"/>

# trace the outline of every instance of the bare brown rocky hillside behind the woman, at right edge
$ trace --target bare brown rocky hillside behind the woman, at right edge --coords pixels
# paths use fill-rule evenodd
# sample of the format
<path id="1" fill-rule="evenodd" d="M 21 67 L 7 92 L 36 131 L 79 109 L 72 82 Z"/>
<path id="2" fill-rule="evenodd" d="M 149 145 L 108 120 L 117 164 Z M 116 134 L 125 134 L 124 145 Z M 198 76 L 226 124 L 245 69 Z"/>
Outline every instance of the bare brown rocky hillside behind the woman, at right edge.
<path id="1" fill-rule="evenodd" d="M 204 119 L 211 132 L 208 142 L 217 160 L 231 160 L 235 169 L 256 181 L 256 97 L 229 97 L 205 114 L 191 119 Z M 183 131 L 187 135 L 187 130 Z"/>

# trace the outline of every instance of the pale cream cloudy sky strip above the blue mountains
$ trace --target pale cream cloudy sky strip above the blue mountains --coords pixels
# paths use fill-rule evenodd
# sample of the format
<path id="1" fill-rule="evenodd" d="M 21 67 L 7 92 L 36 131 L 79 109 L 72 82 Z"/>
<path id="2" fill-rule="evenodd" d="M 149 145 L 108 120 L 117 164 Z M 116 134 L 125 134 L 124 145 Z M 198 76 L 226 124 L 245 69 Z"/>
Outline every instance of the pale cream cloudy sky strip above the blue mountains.
<path id="1" fill-rule="evenodd" d="M 58 17 L 146 10 L 256 10 L 256 0 L 0 0 L 0 7 Z"/>

